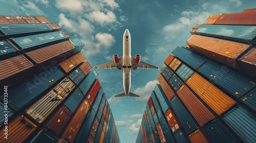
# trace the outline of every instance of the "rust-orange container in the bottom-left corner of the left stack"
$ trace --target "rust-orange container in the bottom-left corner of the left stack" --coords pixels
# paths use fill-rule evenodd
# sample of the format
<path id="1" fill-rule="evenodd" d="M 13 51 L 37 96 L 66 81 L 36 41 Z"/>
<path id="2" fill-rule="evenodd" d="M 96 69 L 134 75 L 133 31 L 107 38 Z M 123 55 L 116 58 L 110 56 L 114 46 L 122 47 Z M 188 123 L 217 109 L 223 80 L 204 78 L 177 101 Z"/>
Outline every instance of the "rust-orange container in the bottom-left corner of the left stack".
<path id="1" fill-rule="evenodd" d="M 0 142 L 23 142 L 30 134 L 32 134 L 37 126 L 24 115 L 18 116 L 14 121 L 8 123 L 8 128 L 0 131 Z M 5 130 L 8 130 L 7 135 Z M 7 136 L 8 139 L 4 138 Z"/>

